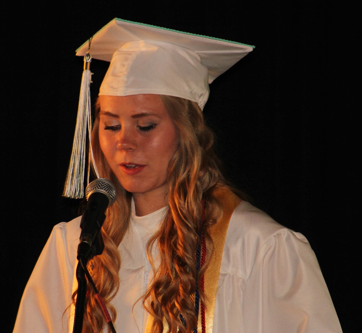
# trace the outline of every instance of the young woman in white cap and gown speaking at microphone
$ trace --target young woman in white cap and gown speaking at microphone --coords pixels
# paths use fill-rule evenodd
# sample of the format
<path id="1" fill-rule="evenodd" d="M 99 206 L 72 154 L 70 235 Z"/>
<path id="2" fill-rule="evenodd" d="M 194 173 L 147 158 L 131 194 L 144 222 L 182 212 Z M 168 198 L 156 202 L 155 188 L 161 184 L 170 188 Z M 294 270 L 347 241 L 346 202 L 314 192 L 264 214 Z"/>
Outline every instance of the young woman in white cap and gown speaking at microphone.
<path id="1" fill-rule="evenodd" d="M 341 332 L 306 238 L 253 207 L 220 173 L 202 108 L 211 63 L 228 62 L 235 45 L 123 20 L 102 31 L 100 40 L 109 33 L 122 42 L 112 46 L 101 85 L 92 149 L 117 199 L 101 230 L 105 248 L 88 269 L 116 330 Z M 210 49 L 222 49 L 222 60 L 208 62 L 202 52 Z M 72 330 L 79 225 L 55 226 L 14 332 Z M 83 332 L 103 330 L 88 286 Z"/>

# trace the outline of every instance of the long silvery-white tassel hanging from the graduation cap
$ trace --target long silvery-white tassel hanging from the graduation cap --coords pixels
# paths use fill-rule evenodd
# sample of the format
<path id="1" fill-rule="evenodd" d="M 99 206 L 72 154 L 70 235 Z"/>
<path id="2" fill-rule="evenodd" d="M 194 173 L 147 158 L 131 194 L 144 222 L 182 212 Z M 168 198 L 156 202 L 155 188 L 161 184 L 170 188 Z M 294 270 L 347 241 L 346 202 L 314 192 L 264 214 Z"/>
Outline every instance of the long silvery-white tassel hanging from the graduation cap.
<path id="1" fill-rule="evenodd" d="M 90 44 L 90 42 L 89 42 Z M 90 83 L 92 72 L 90 72 L 90 62 L 92 56 L 88 53 L 84 56 L 84 67 L 81 81 L 77 123 L 75 127 L 75 134 L 73 139 L 73 149 L 71 160 L 69 164 L 66 183 L 64 185 L 63 197 L 80 199 L 84 197 L 84 169 L 85 169 L 85 153 L 86 153 L 86 140 L 87 128 L 88 138 L 90 142 L 90 133 L 92 132 L 92 116 L 91 116 L 91 102 L 90 102 Z M 92 147 L 90 147 L 90 156 L 93 161 Z M 93 168 L 95 169 L 94 163 Z M 96 170 L 95 170 L 96 171 Z M 96 171 L 97 174 L 97 171 Z M 89 166 L 88 166 L 89 177 Z M 89 178 L 87 179 L 87 184 Z"/>

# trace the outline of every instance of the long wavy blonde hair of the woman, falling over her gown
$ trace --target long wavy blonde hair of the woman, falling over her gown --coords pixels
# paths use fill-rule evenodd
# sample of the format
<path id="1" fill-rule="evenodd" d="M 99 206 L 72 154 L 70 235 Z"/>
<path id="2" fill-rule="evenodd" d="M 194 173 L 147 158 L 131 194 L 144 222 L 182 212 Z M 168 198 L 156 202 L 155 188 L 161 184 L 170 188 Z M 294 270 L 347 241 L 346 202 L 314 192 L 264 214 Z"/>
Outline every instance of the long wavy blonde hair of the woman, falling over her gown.
<path id="1" fill-rule="evenodd" d="M 219 161 L 214 153 L 214 134 L 205 125 L 201 109 L 195 102 L 184 98 L 161 95 L 161 100 L 175 124 L 177 148 L 167 170 L 168 211 L 159 230 L 147 244 L 147 256 L 154 278 L 142 296 L 143 306 L 153 316 L 152 332 L 163 332 L 164 323 L 168 332 L 190 332 L 197 325 L 194 303 L 190 296 L 195 291 L 195 252 L 198 233 L 202 228 L 206 241 L 207 257 L 199 271 L 201 277 L 212 254 L 213 243 L 209 227 L 216 223 L 221 214 L 220 205 L 212 195 L 218 186 L 224 186 Z M 121 257 L 118 246 L 125 236 L 130 222 L 131 194 L 120 185 L 110 170 L 99 144 L 99 111 L 97 102 L 96 118 L 92 131 L 94 158 L 100 177 L 108 178 L 117 189 L 117 201 L 108 208 L 102 226 L 105 249 L 93 258 L 92 277 L 99 294 L 109 309 L 112 320 L 117 313 L 111 300 L 119 289 Z M 200 225 L 202 200 L 205 203 L 205 218 Z M 151 255 L 153 245 L 158 246 L 160 261 L 156 267 Z M 197 278 L 200 281 L 201 278 Z M 76 292 L 73 294 L 75 302 Z M 200 290 L 200 298 L 205 295 Z M 101 332 L 105 320 L 96 304 L 91 288 L 85 300 L 83 332 Z M 180 314 L 184 323 L 180 321 Z"/>

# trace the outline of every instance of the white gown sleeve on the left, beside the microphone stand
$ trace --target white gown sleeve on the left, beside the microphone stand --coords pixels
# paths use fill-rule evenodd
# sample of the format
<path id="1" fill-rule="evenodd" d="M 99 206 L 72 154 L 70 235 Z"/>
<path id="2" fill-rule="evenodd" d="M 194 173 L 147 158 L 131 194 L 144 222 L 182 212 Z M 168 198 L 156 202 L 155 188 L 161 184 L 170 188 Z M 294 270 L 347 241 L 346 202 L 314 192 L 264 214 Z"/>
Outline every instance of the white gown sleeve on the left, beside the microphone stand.
<path id="1" fill-rule="evenodd" d="M 26 284 L 13 333 L 69 332 L 80 219 L 53 228 Z"/>

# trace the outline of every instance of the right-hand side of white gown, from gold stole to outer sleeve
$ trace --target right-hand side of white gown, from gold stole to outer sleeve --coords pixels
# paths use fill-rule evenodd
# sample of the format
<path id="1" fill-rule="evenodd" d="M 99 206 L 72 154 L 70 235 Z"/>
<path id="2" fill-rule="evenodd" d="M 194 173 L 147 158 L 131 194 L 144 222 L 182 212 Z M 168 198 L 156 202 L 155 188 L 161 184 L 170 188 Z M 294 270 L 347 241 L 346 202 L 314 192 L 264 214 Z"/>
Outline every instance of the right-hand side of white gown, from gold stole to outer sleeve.
<path id="1" fill-rule="evenodd" d="M 246 202 L 236 208 L 228 227 L 213 329 L 220 333 L 342 332 L 306 237 Z"/>

